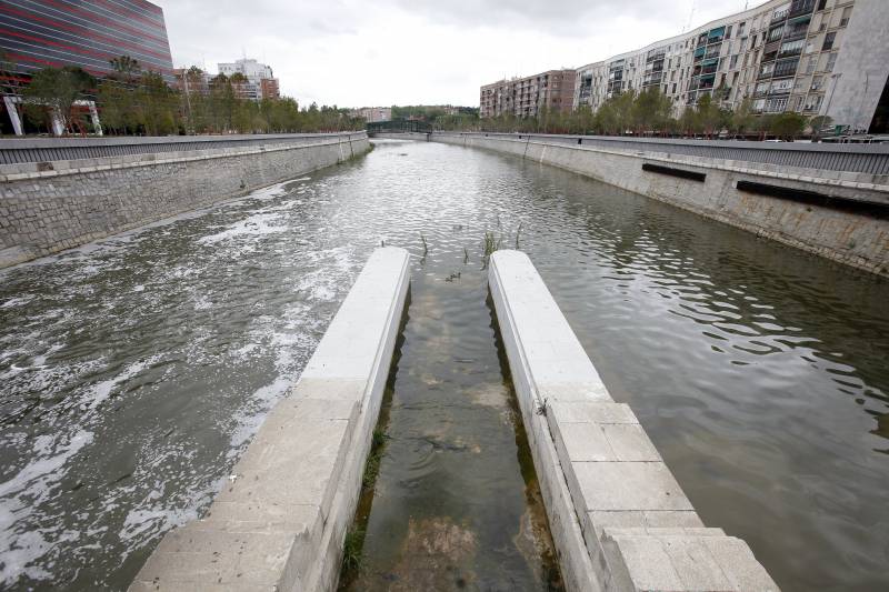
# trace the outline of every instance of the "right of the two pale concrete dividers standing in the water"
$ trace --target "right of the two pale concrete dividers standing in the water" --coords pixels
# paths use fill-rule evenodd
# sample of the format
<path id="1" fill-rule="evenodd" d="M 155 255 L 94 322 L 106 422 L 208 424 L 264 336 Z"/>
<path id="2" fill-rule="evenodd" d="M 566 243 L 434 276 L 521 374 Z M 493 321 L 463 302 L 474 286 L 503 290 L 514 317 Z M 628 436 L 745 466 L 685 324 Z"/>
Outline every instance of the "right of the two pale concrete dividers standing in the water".
<path id="1" fill-rule="evenodd" d="M 489 285 L 567 588 L 777 591 L 743 541 L 703 525 L 528 257 L 496 252 Z"/>

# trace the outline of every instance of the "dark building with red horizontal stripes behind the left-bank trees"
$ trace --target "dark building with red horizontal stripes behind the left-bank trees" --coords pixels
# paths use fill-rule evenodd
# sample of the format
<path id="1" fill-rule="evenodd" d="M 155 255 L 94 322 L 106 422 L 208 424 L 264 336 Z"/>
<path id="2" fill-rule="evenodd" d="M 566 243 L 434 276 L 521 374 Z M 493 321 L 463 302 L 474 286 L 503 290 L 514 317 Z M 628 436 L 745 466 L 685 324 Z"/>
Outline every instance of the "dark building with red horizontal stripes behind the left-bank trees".
<path id="1" fill-rule="evenodd" d="M 174 83 L 160 7 L 146 0 L 0 1 L 0 57 L 13 69 L 7 76 L 27 80 L 42 68 L 76 66 L 104 77 L 121 56 Z"/>

